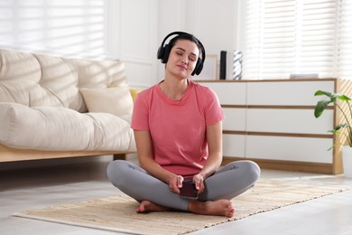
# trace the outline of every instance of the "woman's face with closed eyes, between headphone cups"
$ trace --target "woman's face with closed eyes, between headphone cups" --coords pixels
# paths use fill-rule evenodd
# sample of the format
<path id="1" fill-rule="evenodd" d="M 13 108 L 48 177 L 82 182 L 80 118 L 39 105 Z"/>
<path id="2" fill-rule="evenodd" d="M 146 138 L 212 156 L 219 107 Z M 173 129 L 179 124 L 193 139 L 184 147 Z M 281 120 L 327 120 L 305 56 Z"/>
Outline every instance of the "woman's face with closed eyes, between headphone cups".
<path id="1" fill-rule="evenodd" d="M 195 42 L 178 40 L 171 48 L 166 70 L 171 74 L 187 79 L 196 67 L 199 48 Z"/>

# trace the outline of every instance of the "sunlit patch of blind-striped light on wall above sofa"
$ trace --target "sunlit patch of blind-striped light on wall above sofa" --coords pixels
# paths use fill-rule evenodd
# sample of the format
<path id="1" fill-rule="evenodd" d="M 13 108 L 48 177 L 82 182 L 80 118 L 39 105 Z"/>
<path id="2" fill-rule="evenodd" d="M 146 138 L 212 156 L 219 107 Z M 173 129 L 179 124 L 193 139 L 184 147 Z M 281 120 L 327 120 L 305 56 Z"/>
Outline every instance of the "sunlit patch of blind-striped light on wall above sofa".
<path id="1" fill-rule="evenodd" d="M 107 0 L 0 3 L 0 46 L 94 57 L 107 54 Z"/>

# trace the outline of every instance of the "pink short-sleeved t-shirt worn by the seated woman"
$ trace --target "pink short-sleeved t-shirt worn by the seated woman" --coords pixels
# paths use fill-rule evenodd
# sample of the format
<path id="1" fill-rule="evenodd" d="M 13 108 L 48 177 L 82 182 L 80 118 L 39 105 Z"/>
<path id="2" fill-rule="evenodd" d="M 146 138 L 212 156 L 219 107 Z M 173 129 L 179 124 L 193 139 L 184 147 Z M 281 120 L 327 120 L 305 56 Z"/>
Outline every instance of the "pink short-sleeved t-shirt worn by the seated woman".
<path id="1" fill-rule="evenodd" d="M 159 84 L 139 93 L 131 127 L 150 131 L 155 162 L 190 175 L 199 173 L 208 158 L 207 126 L 223 118 L 215 92 L 189 80 L 181 100 L 168 98 Z"/>

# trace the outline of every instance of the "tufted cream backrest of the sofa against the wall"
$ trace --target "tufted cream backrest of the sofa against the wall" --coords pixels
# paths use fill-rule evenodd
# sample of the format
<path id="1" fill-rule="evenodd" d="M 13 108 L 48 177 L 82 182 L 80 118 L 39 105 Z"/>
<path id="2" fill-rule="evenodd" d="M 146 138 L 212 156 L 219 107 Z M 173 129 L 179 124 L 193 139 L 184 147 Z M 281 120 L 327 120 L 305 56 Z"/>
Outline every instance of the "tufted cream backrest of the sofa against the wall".
<path id="1" fill-rule="evenodd" d="M 124 64 L 0 49 L 0 102 L 86 112 L 81 88 L 128 87 Z"/>

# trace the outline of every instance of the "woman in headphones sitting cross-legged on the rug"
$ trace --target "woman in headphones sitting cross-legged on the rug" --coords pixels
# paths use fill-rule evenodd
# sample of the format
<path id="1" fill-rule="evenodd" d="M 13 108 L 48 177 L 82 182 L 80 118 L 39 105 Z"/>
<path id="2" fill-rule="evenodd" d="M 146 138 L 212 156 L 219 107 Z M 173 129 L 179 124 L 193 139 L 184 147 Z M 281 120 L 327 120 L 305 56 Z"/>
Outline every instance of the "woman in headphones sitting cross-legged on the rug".
<path id="1" fill-rule="evenodd" d="M 202 69 L 204 47 L 189 33 L 170 33 L 158 59 L 166 64 L 164 80 L 134 102 L 131 127 L 140 166 L 114 161 L 107 167 L 108 178 L 140 202 L 137 212 L 181 210 L 232 217 L 235 209 L 229 200 L 254 186 L 260 169 L 251 161 L 220 167 L 222 108 L 215 92 L 190 80 Z M 194 183 L 198 199 L 180 195 L 186 179 Z"/>

